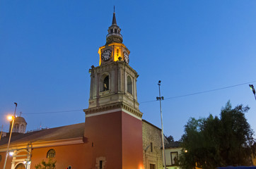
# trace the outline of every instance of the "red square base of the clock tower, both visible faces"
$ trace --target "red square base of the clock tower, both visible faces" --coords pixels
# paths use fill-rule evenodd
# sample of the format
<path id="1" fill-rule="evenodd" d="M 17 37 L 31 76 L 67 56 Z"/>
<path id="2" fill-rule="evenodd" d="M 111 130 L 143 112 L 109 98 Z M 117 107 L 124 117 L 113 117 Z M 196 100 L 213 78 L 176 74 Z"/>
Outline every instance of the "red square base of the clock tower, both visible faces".
<path id="1" fill-rule="evenodd" d="M 86 118 L 84 137 L 86 158 L 91 158 L 91 161 L 105 159 L 105 167 L 113 169 L 143 168 L 140 119 L 123 111 L 105 114 L 102 112 Z M 94 147 L 90 149 L 92 144 Z"/>

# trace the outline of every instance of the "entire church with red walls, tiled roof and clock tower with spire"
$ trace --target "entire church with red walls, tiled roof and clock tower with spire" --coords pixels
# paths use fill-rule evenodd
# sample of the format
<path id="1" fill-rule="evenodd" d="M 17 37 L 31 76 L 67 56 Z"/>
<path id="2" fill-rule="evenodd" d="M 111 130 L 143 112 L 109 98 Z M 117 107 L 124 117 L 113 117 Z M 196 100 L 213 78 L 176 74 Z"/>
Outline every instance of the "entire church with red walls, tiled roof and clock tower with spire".
<path id="1" fill-rule="evenodd" d="M 142 120 L 137 101 L 139 75 L 129 66 L 115 12 L 99 65 L 92 66 L 86 122 L 35 132 L 13 131 L 6 169 L 34 169 L 54 159 L 57 169 L 163 168 L 161 130 Z M 24 129 L 24 127 L 22 127 Z M 21 131 L 21 129 L 20 129 Z M 0 168 L 6 158 L 8 134 L 0 142 Z"/>

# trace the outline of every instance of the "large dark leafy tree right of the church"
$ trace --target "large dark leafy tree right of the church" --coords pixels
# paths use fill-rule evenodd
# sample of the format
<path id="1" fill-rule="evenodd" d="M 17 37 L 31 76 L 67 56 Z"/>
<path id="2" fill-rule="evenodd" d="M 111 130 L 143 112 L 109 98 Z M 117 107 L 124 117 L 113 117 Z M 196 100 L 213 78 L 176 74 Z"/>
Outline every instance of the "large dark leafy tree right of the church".
<path id="1" fill-rule="evenodd" d="M 232 108 L 228 101 L 220 118 L 190 118 L 182 135 L 182 168 L 252 165 L 255 139 L 245 118 L 248 110 L 243 105 Z"/>

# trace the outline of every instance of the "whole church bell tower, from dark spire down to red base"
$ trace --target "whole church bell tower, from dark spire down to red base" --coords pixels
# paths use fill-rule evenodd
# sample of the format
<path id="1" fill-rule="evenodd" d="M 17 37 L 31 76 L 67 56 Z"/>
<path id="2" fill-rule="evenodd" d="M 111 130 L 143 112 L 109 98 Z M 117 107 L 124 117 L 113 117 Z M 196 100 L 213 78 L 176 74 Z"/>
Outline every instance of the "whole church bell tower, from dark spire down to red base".
<path id="1" fill-rule="evenodd" d="M 106 43 L 98 50 L 99 65 L 92 66 L 84 142 L 88 168 L 143 167 L 142 113 L 137 101 L 138 73 L 129 66 L 129 54 L 117 25 L 115 10 Z M 90 147 L 90 148 L 89 148 Z"/>

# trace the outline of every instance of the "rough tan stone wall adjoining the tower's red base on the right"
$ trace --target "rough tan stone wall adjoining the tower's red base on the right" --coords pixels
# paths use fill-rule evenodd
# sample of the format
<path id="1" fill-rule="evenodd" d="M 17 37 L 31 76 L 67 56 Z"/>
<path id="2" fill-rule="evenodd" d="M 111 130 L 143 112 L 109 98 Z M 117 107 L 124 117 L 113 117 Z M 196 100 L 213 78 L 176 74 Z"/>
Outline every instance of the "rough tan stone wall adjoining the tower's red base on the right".
<path id="1" fill-rule="evenodd" d="M 144 168 L 149 169 L 150 164 L 155 165 L 156 168 L 159 169 L 163 168 L 161 130 L 158 127 L 146 122 L 145 120 L 142 120 L 142 138 Z"/>

